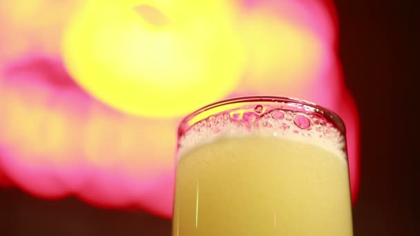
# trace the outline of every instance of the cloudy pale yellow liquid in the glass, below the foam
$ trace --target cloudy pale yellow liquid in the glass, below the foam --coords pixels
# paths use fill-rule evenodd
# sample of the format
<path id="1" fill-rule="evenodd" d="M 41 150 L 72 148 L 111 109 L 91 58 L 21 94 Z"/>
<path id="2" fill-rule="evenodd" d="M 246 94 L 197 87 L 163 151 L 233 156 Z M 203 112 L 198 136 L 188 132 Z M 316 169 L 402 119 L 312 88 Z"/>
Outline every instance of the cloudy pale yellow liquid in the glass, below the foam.
<path id="1" fill-rule="evenodd" d="M 347 162 L 277 137 L 218 139 L 180 156 L 173 236 L 352 235 Z"/>

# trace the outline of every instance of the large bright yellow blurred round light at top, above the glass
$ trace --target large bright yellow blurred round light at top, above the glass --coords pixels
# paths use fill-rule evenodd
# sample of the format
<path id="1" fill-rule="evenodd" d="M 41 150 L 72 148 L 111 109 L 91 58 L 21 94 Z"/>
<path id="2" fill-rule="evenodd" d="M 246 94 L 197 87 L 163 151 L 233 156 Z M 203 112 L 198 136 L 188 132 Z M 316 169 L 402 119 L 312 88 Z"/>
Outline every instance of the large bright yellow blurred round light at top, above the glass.
<path id="1" fill-rule="evenodd" d="M 77 83 L 135 115 L 178 116 L 222 99 L 242 72 L 227 1 L 89 1 L 64 35 Z"/>

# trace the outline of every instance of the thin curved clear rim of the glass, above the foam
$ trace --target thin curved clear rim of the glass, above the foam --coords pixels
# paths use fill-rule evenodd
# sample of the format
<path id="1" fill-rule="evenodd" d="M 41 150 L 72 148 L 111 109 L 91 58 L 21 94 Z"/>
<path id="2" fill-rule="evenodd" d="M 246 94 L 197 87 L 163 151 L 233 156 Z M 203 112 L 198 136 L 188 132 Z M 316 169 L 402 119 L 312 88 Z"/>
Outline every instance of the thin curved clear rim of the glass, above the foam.
<path id="1" fill-rule="evenodd" d="M 202 114 L 203 112 L 207 112 L 210 110 L 213 110 L 214 108 L 232 105 L 232 104 L 240 104 L 240 103 L 272 103 L 271 105 L 280 104 L 283 103 L 287 106 L 287 108 L 296 108 L 297 106 L 303 106 L 305 108 L 309 108 L 309 110 L 304 110 L 303 112 L 306 112 L 308 114 L 317 114 L 321 115 L 323 118 L 327 119 L 327 121 L 330 121 L 330 123 L 338 129 L 339 132 L 341 132 L 341 135 L 345 136 L 345 124 L 343 122 L 343 119 L 341 119 L 340 116 L 336 114 L 336 112 L 333 112 L 330 109 L 327 109 L 321 105 L 315 104 L 311 101 L 305 101 L 303 99 L 297 99 L 292 97 L 278 97 L 278 96 L 242 96 L 242 97 L 233 97 L 229 99 L 223 99 L 220 101 L 216 101 L 212 104 L 209 104 L 207 106 L 203 106 L 202 108 L 199 108 L 198 110 L 195 110 L 194 112 L 191 112 L 189 115 L 185 116 L 178 126 L 178 138 L 182 137 L 188 130 L 196 124 L 199 121 L 202 121 L 203 119 L 206 119 L 207 117 L 204 117 L 203 119 L 198 119 L 197 121 L 193 122 L 193 124 L 190 124 L 190 121 L 193 120 L 193 118 L 197 117 L 198 115 Z M 258 105 L 258 104 L 256 104 Z M 236 107 L 240 108 L 240 106 Z M 287 108 L 284 108 L 287 110 Z M 222 110 L 222 111 L 227 111 Z M 292 109 L 293 110 L 293 109 Z M 297 109 L 296 109 L 297 110 Z M 302 110 L 300 110 L 302 111 Z M 210 113 L 209 116 L 217 114 L 218 112 Z"/>

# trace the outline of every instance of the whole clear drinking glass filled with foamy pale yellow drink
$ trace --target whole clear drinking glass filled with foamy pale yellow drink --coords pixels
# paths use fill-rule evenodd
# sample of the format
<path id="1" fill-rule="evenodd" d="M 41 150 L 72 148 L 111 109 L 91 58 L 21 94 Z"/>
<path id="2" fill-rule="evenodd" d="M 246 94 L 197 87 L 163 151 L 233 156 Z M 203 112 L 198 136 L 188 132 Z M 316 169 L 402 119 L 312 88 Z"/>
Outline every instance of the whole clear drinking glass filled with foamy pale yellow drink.
<path id="1" fill-rule="evenodd" d="M 285 97 L 240 97 L 178 128 L 173 236 L 352 235 L 345 126 Z"/>

